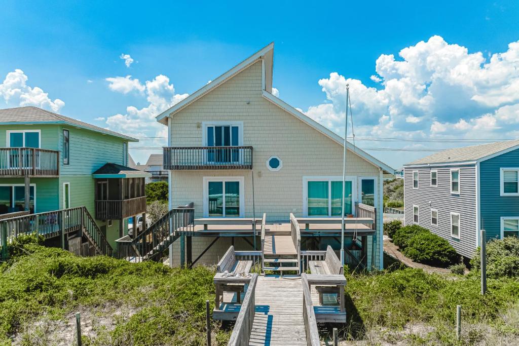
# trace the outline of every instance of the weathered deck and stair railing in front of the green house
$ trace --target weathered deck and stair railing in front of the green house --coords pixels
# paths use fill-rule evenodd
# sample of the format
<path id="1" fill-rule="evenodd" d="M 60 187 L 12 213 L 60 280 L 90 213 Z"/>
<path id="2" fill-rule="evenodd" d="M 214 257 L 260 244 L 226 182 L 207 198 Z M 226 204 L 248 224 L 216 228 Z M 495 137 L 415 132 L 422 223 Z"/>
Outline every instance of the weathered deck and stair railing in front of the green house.
<path id="1" fill-rule="evenodd" d="M 22 235 L 38 234 L 45 239 L 61 237 L 67 248 L 69 234 L 85 236 L 100 255 L 112 255 L 112 247 L 84 206 L 52 212 L 11 217 L 0 220 L 2 258 L 7 257 L 7 244 Z"/>

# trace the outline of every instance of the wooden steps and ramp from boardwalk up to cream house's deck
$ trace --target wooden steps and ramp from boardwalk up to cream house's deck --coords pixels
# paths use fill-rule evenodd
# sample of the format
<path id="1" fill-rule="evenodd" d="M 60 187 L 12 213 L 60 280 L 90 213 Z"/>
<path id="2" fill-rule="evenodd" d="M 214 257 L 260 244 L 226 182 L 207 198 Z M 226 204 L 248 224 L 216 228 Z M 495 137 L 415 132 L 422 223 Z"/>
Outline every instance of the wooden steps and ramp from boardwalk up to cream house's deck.
<path id="1" fill-rule="evenodd" d="M 290 214 L 291 230 L 262 228 L 262 271 L 295 271 L 301 274 L 301 231 L 293 214 Z M 267 226 L 268 227 L 268 226 Z"/>

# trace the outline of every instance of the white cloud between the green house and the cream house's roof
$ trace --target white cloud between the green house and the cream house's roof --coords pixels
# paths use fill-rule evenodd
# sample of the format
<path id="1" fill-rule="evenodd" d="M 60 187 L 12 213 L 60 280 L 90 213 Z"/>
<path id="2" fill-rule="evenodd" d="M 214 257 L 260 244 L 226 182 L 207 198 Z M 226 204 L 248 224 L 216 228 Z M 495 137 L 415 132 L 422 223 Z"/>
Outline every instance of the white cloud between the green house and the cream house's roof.
<path id="1" fill-rule="evenodd" d="M 106 80 L 112 81 L 116 78 L 122 77 L 106 78 Z M 131 80 L 134 81 L 135 79 Z M 144 85 L 139 81 L 132 83 L 131 85 L 140 86 L 138 89 L 134 89 L 142 91 L 146 95 L 148 105 L 142 108 L 130 105 L 126 107 L 126 113 L 108 116 L 106 118 L 107 128 L 134 137 L 164 137 L 163 139 L 143 140 L 136 145 L 145 147 L 165 146 L 167 144 L 168 128 L 158 123 L 155 117 L 175 103 L 185 99 L 188 94 L 175 93 L 173 84 L 170 84 L 169 78 L 165 75 L 158 75 L 152 80 L 147 80 Z M 113 88 L 112 84 L 108 87 L 116 92 L 124 92 L 122 90 L 126 90 L 124 88 Z M 130 144 L 130 148 L 132 145 Z M 161 150 L 159 149 L 132 150 L 132 156 L 137 161 L 145 162 L 149 154 L 158 154 L 160 152 Z"/>

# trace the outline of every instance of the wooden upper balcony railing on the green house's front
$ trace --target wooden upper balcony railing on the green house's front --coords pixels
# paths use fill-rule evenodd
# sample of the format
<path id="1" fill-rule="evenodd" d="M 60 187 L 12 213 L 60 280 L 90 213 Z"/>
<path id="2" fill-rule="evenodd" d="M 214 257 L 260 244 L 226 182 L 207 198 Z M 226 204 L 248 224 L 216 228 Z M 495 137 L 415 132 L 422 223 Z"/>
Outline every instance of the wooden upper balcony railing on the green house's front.
<path id="1" fill-rule="evenodd" d="M 59 176 L 60 153 L 39 148 L 0 148 L 0 176 Z"/>

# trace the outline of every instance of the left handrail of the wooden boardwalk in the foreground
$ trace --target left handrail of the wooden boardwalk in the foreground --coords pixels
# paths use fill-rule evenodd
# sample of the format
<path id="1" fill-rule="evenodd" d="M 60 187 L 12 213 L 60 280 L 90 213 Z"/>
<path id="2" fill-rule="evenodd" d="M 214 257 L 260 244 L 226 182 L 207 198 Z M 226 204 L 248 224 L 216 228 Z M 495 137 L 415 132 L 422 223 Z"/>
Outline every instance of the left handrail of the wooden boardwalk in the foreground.
<path id="1" fill-rule="evenodd" d="M 252 324 L 254 323 L 254 314 L 256 313 L 255 288 L 258 274 L 253 273 L 247 293 L 243 298 L 240 312 L 236 318 L 236 324 L 233 333 L 230 335 L 228 346 L 247 346 L 251 338 Z M 317 325 L 316 325 L 317 326 Z"/>

